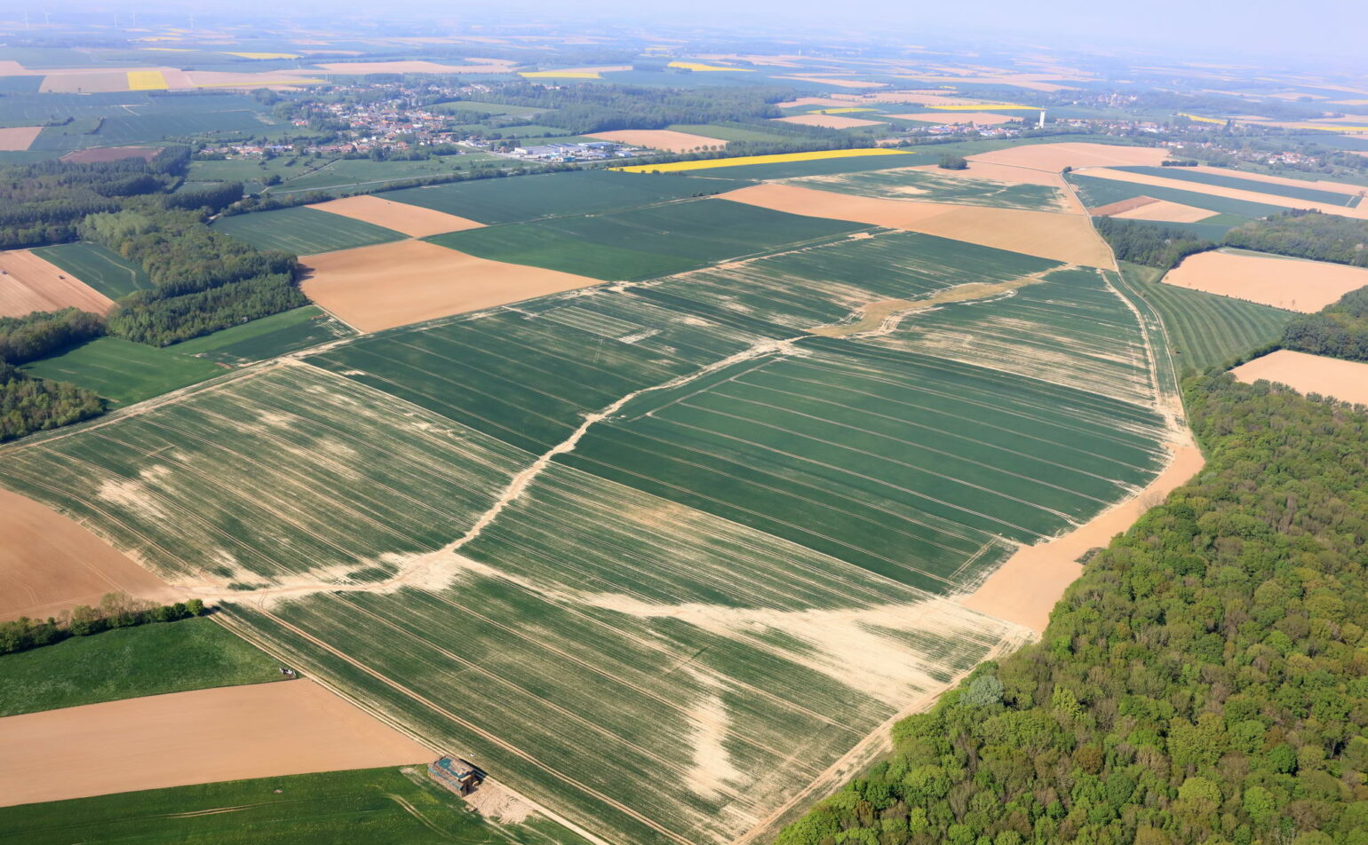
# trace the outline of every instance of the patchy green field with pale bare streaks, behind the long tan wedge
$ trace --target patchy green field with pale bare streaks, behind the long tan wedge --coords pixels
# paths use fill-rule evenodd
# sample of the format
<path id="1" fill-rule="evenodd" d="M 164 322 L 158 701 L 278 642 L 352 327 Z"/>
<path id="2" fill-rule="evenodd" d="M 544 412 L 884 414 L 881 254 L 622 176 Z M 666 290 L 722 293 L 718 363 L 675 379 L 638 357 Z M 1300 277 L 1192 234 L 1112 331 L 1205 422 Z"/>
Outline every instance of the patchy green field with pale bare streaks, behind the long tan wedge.
<path id="1" fill-rule="evenodd" d="M 988 179 L 941 175 L 923 170 L 876 170 L 795 179 L 803 187 L 886 200 L 929 200 L 956 205 L 989 205 L 1064 211 L 1064 196 L 1048 185 L 1008 185 Z"/>

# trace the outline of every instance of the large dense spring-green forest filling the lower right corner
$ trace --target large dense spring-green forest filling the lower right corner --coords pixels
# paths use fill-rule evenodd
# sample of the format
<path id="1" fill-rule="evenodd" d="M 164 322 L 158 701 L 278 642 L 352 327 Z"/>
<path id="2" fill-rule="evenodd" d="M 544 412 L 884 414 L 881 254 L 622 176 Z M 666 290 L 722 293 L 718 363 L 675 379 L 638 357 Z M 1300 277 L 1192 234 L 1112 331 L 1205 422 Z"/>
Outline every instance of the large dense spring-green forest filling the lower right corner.
<path id="1" fill-rule="evenodd" d="M 1368 842 L 1368 414 L 1185 387 L 1204 472 L 780 845 Z"/>

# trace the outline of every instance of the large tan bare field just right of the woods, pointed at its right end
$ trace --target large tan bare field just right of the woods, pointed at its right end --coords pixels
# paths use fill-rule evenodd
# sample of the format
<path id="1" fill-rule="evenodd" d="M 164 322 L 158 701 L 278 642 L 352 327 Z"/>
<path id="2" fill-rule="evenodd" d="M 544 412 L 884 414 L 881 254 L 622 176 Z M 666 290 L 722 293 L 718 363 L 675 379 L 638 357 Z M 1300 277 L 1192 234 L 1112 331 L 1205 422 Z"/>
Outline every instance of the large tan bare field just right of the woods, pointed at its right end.
<path id="1" fill-rule="evenodd" d="M 306 256 L 305 295 L 360 331 L 380 331 L 495 305 L 520 302 L 598 279 L 505 264 L 427 241 Z"/>

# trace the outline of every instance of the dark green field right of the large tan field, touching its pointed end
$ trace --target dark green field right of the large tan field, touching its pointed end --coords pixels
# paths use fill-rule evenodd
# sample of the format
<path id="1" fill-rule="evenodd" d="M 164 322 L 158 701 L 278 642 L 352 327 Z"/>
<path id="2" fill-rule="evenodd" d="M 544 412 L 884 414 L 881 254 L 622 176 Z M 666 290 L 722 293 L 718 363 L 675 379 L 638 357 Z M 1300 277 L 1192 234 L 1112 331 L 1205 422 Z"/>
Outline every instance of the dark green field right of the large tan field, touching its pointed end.
<path id="1" fill-rule="evenodd" d="M 471 228 L 427 239 L 482 258 L 611 282 L 666 276 L 860 228 L 866 227 L 728 200 L 696 200 Z"/>

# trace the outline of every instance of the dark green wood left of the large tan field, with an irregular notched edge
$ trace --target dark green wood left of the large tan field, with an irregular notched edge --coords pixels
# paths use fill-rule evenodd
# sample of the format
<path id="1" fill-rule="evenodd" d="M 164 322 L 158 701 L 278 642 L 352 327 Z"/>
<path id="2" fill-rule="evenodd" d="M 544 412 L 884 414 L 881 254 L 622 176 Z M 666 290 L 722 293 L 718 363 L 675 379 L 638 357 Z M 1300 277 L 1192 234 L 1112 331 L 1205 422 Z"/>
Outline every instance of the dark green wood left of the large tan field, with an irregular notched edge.
<path id="1" fill-rule="evenodd" d="M 85 219 L 83 238 L 138 261 L 153 283 L 119 299 L 112 334 L 167 346 L 308 304 L 295 256 L 219 234 L 202 215 L 145 205 Z"/>

